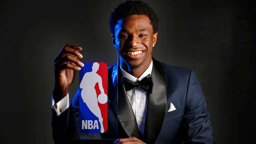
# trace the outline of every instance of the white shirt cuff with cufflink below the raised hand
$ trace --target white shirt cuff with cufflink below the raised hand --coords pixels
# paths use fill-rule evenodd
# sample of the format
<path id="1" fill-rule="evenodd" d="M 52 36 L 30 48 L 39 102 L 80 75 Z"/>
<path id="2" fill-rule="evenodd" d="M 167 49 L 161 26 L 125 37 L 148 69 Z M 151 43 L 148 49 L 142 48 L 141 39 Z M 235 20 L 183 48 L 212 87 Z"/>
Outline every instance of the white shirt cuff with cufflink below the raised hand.
<path id="1" fill-rule="evenodd" d="M 52 96 L 52 108 L 54 112 L 56 112 L 56 115 L 59 116 L 61 113 L 63 113 L 66 109 L 68 109 L 70 106 L 69 101 L 69 93 L 63 97 L 59 102 L 55 103 L 53 96 Z"/>

